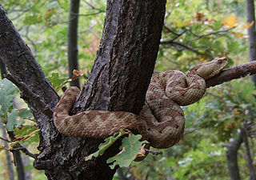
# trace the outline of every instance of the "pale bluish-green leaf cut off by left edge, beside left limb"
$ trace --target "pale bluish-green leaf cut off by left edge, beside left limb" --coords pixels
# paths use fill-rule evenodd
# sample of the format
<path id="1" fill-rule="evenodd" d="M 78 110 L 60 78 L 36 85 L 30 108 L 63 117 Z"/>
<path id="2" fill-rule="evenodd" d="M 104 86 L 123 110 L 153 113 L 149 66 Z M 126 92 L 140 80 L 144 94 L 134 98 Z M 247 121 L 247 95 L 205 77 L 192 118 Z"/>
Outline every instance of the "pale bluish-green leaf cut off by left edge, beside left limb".
<path id="1" fill-rule="evenodd" d="M 0 114 L 6 116 L 10 107 L 13 105 L 13 99 L 18 93 L 17 86 L 4 78 L 0 81 Z M 2 116 L 1 115 L 1 116 Z"/>

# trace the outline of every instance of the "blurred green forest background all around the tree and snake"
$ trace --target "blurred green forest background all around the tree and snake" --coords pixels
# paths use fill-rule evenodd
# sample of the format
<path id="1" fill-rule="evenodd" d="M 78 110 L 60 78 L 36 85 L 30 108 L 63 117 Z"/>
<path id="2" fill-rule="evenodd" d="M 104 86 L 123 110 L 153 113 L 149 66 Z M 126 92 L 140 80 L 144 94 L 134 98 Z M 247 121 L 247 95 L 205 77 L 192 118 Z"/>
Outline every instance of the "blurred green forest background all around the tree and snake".
<path id="1" fill-rule="evenodd" d="M 30 46 L 50 82 L 58 86 L 69 76 L 70 1 L 1 0 L 0 6 Z M 84 73 L 79 78 L 81 87 L 94 64 L 105 11 L 106 2 L 102 0 L 81 1 L 79 5 L 78 64 Z M 192 66 L 225 54 L 229 66 L 248 62 L 250 37 L 247 30 L 254 26 L 254 22 L 247 21 L 246 13 L 246 2 L 241 0 L 167 1 L 154 73 L 164 70 L 186 72 Z M 9 82 L 1 83 L 10 86 Z M 10 88 L 10 91 L 1 93 L 10 95 L 11 99 L 15 97 L 10 107 L 15 116 L 18 110 L 27 106 L 18 98 L 17 89 Z M 58 94 L 62 94 L 62 90 Z M 186 130 L 178 145 L 162 150 L 162 155 L 150 154 L 142 162 L 119 168 L 114 179 L 255 179 L 254 94 L 254 82 L 248 77 L 208 89 L 199 102 L 183 107 Z M 2 99 L 0 103 L 4 103 Z M 7 114 L 1 113 L 2 117 Z M 29 112 L 24 114 L 26 118 L 20 122 L 9 122 L 5 128 L 1 124 L 2 138 L 8 138 L 6 128 L 17 137 L 37 130 L 33 118 L 29 119 Z M 38 153 L 38 134 L 28 136 L 20 143 L 31 153 Z M 10 147 L 5 143 L 2 141 L 2 146 Z M 20 166 L 16 162 L 19 168 L 16 170 L 12 156 L 10 151 L 2 148 L 0 179 L 22 179 L 17 175 L 21 169 L 24 170 L 23 179 L 46 179 L 43 170 L 34 169 L 33 158 L 16 154 L 21 158 Z M 232 169 L 234 165 L 237 169 Z"/>

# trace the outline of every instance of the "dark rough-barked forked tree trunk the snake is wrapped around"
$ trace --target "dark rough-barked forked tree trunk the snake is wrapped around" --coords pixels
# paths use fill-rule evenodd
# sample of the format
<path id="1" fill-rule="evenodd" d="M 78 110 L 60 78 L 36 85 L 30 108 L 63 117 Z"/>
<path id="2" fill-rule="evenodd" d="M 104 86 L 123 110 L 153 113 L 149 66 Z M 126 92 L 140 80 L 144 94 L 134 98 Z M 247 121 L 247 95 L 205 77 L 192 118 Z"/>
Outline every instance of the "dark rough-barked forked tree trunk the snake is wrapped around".
<path id="1" fill-rule="evenodd" d="M 138 114 L 158 54 L 165 5 L 165 0 L 107 1 L 101 45 L 74 112 L 98 109 Z M 46 170 L 48 179 L 112 179 L 115 170 L 110 170 L 106 159 L 118 152 L 118 146 L 84 161 L 102 140 L 58 133 L 52 122 L 58 95 L 2 8 L 0 25 L 0 56 L 6 59 L 13 75 L 9 78 L 22 90 L 40 128 L 41 152 L 34 166 Z"/>

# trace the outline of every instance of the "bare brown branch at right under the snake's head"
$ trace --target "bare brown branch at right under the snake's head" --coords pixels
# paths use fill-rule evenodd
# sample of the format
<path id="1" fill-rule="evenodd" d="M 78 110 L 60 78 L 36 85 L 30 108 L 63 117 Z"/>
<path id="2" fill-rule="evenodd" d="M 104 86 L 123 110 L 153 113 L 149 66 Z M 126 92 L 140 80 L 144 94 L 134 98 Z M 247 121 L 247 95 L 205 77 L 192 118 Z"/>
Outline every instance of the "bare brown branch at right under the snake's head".
<path id="1" fill-rule="evenodd" d="M 256 61 L 230 67 L 222 70 L 220 74 L 206 80 L 206 87 L 217 86 L 223 82 L 230 82 L 233 79 L 245 77 L 248 74 L 256 74 Z"/>

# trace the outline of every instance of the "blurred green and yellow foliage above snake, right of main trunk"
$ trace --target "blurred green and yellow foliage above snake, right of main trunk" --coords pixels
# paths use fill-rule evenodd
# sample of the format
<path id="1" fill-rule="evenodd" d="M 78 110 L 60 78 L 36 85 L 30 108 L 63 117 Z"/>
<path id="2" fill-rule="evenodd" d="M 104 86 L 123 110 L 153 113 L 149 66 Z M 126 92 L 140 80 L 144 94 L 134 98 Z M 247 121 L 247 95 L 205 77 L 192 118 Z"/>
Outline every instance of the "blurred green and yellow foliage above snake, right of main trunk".
<path id="1" fill-rule="evenodd" d="M 231 6 L 241 8 L 241 3 Z M 229 54 L 232 64 L 246 50 L 246 28 L 250 26 L 242 23 L 241 14 L 234 13 L 219 8 L 216 1 L 167 2 L 157 70 L 188 70 L 224 54 Z"/>

